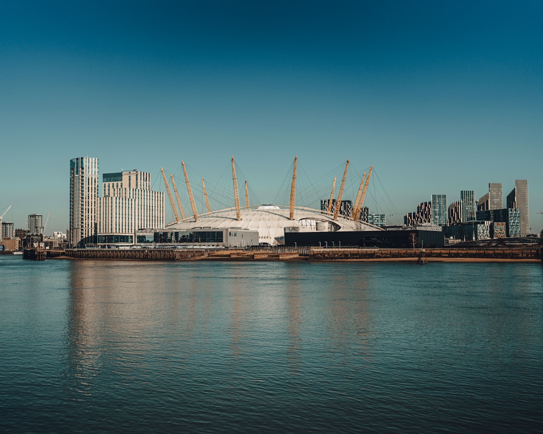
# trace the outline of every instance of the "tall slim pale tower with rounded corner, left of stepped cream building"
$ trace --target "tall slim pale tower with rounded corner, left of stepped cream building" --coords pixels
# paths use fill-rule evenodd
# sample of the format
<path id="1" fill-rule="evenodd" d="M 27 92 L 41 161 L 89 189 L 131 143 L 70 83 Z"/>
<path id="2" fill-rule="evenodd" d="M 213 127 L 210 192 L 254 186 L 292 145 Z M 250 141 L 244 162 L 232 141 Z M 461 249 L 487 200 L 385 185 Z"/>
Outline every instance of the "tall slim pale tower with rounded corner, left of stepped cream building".
<path id="1" fill-rule="evenodd" d="M 96 243 L 98 158 L 70 160 L 70 245 Z"/>

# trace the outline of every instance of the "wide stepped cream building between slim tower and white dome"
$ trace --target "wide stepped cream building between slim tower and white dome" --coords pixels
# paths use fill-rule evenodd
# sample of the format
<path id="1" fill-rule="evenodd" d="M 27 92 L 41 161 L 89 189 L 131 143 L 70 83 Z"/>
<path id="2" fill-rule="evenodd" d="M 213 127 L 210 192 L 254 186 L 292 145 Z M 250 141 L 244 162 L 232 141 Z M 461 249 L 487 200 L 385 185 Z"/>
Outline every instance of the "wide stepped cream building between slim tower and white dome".
<path id="1" fill-rule="evenodd" d="M 139 229 L 164 227 L 164 193 L 151 190 L 151 174 L 104 174 L 99 199 L 98 244 L 135 244 Z"/>

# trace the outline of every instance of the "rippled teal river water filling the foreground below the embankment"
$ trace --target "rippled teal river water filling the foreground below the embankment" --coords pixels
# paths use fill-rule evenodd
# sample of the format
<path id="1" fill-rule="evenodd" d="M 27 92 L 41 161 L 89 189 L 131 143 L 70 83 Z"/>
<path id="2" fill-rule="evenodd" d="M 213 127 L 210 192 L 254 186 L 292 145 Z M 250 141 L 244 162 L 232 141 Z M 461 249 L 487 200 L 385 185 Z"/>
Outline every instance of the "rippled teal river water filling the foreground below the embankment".
<path id="1" fill-rule="evenodd" d="M 0 257 L 0 432 L 543 430 L 540 264 Z"/>

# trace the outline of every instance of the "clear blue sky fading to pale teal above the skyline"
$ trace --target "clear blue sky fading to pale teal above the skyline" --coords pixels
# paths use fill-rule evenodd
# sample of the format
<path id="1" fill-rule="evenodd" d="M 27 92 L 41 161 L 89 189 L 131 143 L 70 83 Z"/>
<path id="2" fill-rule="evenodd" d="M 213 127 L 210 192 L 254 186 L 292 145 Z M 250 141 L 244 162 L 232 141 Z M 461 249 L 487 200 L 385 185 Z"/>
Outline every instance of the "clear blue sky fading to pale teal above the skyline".
<path id="1" fill-rule="evenodd" d="M 233 206 L 343 199 L 391 224 L 431 194 L 527 179 L 543 214 L 540 2 L 9 2 L 0 14 L 0 213 L 66 230 L 70 159 L 173 173 Z M 101 178 L 100 178 L 101 179 Z M 243 202 L 243 200 L 242 200 Z M 166 220 L 173 219 L 167 206 Z"/>

